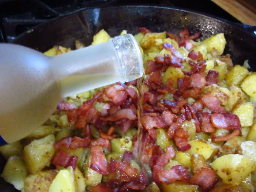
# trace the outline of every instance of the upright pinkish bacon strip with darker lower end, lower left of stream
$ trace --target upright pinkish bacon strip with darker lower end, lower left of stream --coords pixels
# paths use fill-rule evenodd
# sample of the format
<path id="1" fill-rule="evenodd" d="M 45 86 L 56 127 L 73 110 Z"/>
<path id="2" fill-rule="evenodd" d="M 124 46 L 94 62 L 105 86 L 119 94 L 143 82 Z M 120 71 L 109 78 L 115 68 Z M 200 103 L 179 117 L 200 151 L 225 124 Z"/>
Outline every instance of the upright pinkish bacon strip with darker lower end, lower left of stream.
<path id="1" fill-rule="evenodd" d="M 103 147 L 91 146 L 91 165 L 90 168 L 100 174 L 108 174 L 108 162 L 103 153 Z"/>

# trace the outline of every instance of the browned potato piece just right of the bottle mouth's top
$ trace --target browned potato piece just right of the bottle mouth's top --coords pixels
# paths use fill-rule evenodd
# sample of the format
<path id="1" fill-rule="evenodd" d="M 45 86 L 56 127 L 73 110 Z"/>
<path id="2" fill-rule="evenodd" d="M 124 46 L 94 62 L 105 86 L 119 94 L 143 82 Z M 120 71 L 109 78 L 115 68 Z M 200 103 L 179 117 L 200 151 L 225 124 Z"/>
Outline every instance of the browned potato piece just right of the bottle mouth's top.
<path id="1" fill-rule="evenodd" d="M 146 33 L 146 35 L 143 36 L 143 38 L 140 41 L 140 46 L 144 49 L 151 48 L 153 46 L 156 46 L 156 39 L 165 39 L 166 38 L 166 32 L 162 33 Z"/>

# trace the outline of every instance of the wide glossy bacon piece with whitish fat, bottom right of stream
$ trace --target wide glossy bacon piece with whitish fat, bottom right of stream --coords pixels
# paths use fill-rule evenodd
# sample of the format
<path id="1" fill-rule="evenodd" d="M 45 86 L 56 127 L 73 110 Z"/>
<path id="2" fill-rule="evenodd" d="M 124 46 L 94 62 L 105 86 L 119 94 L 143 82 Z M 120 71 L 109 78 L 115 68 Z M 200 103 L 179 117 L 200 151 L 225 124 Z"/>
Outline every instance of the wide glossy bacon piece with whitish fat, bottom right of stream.
<path id="1" fill-rule="evenodd" d="M 170 170 L 162 169 L 158 173 L 158 178 L 167 185 L 175 181 L 189 182 L 190 180 L 188 170 L 183 165 L 175 165 Z"/>

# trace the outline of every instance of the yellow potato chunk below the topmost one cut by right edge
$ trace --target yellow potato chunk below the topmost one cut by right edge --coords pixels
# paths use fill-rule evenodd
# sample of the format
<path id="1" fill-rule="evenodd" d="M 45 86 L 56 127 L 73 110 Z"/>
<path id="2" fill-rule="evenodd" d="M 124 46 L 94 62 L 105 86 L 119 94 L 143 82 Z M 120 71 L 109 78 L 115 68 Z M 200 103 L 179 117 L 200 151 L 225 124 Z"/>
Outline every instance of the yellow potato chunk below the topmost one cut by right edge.
<path id="1" fill-rule="evenodd" d="M 254 106 L 251 102 L 242 102 L 232 110 L 232 113 L 238 116 L 242 127 L 248 127 L 253 123 L 253 110 Z"/>

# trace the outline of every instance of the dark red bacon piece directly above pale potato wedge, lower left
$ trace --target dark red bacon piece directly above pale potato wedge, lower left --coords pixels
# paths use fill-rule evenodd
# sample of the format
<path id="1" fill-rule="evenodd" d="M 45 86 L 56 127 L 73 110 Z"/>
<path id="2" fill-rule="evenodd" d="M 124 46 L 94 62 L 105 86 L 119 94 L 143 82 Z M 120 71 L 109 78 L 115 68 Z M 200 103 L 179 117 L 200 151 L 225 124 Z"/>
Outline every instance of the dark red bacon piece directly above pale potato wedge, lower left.
<path id="1" fill-rule="evenodd" d="M 52 164 L 55 166 L 69 167 L 71 166 L 74 170 L 76 168 L 76 162 L 78 157 L 71 155 L 64 150 L 57 150 L 52 158 Z"/>

